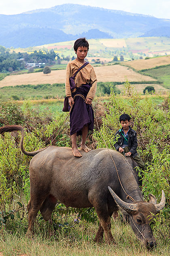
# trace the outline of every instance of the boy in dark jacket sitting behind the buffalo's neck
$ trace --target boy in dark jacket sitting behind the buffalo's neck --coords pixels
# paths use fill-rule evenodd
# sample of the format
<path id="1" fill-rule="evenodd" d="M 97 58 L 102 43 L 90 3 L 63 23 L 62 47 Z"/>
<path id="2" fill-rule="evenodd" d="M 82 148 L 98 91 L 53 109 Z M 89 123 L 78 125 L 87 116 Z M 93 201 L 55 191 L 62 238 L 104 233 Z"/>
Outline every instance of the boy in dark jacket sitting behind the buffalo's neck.
<path id="1" fill-rule="evenodd" d="M 137 137 L 136 132 L 129 126 L 130 116 L 127 114 L 123 114 L 119 117 L 119 121 L 121 123 L 122 128 L 118 130 L 115 134 L 119 135 L 117 142 L 115 143 L 115 149 L 125 156 L 132 156 L 140 169 L 144 170 L 145 166 L 137 153 Z"/>

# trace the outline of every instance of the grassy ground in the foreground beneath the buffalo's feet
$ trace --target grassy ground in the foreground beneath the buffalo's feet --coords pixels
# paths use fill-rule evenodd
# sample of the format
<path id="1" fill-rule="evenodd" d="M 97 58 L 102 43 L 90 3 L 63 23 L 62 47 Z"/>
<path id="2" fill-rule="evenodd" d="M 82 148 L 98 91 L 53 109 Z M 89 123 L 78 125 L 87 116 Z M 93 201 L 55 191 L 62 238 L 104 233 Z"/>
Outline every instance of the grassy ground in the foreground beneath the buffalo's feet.
<path id="1" fill-rule="evenodd" d="M 26 225 L 26 223 L 25 223 Z M 112 234 L 115 244 L 93 241 L 98 224 L 81 223 L 73 225 L 68 234 L 64 230 L 48 232 L 48 224 L 36 223 L 33 238 L 25 235 L 26 226 L 13 233 L 3 230 L 0 233 L 0 251 L 4 256 L 169 256 L 170 245 L 156 234 L 157 247 L 147 251 L 137 240 L 129 225 L 120 220 L 112 221 Z"/>

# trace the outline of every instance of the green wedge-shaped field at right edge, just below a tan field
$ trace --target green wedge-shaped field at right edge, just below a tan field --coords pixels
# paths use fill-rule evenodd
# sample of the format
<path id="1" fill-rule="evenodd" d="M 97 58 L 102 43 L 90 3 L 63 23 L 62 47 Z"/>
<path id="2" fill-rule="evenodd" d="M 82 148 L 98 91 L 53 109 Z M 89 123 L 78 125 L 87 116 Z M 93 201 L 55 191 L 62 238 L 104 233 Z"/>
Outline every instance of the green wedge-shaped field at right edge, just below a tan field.
<path id="1" fill-rule="evenodd" d="M 155 79 L 158 79 L 163 83 L 162 86 L 164 86 L 167 89 L 170 89 L 170 65 L 147 69 L 141 71 L 140 74 L 151 76 Z"/>

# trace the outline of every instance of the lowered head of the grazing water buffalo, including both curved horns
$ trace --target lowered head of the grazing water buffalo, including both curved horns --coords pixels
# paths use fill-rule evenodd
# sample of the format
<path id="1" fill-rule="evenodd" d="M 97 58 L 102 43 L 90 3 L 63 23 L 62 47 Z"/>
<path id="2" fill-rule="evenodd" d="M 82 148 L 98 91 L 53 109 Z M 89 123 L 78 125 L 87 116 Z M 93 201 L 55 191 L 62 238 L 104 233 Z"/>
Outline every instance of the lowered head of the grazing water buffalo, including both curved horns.
<path id="1" fill-rule="evenodd" d="M 159 213 L 165 206 L 165 194 L 162 190 L 161 202 L 157 204 L 153 195 L 149 195 L 149 202 L 136 202 L 130 204 L 121 200 L 115 192 L 108 187 L 115 202 L 128 214 L 128 220 L 132 226 L 132 229 L 138 239 L 149 248 L 156 245 L 156 241 L 153 237 L 152 229 L 149 225 L 154 215 Z M 151 214 L 152 213 L 152 214 Z"/>

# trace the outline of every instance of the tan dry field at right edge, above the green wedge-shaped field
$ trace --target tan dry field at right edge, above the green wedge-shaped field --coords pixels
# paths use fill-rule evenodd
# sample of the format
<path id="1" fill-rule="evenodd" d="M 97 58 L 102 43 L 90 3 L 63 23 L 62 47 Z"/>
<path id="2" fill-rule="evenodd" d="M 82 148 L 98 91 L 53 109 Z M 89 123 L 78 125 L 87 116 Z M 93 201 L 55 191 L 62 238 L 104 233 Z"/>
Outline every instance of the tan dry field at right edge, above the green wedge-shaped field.
<path id="1" fill-rule="evenodd" d="M 136 70 L 149 69 L 156 66 L 169 65 L 169 64 L 170 64 L 170 55 L 159 57 L 159 58 L 147 59 L 147 60 L 139 59 L 135 61 L 126 62 L 126 65 L 129 65 L 130 67 L 133 67 Z"/>

